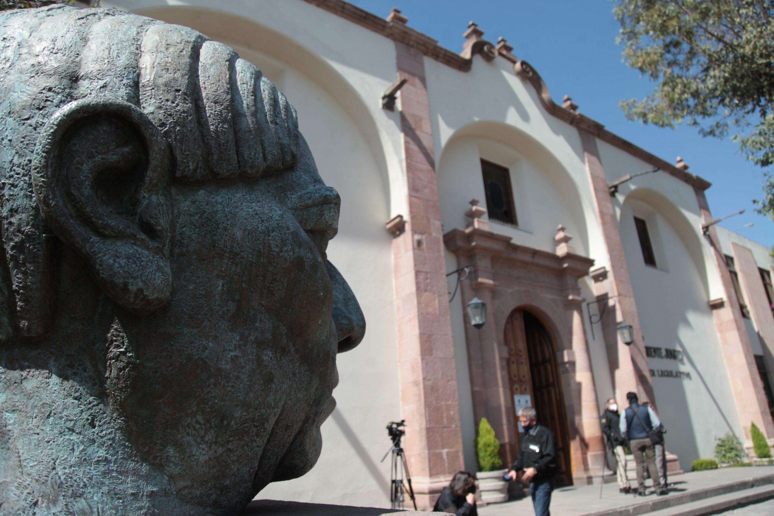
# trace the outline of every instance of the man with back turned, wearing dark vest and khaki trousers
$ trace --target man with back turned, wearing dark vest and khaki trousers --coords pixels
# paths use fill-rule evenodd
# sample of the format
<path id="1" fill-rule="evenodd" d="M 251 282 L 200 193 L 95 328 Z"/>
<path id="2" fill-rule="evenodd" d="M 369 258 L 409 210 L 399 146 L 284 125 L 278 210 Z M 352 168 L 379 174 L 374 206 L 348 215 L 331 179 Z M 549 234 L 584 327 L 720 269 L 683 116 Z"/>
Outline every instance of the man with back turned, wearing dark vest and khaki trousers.
<path id="1" fill-rule="evenodd" d="M 650 431 L 661 425 L 661 422 L 651 408 L 639 405 L 639 399 L 634 392 L 627 393 L 626 399 L 629 402 L 629 408 L 624 412 L 619 428 L 621 435 L 628 438 L 629 447 L 632 449 L 634 462 L 637 465 L 637 494 L 640 496 L 646 494 L 646 466 L 653 480 L 653 490 L 658 494 L 666 494 L 666 488 L 661 484 L 659 470 L 656 467 L 656 447 L 650 440 Z"/>

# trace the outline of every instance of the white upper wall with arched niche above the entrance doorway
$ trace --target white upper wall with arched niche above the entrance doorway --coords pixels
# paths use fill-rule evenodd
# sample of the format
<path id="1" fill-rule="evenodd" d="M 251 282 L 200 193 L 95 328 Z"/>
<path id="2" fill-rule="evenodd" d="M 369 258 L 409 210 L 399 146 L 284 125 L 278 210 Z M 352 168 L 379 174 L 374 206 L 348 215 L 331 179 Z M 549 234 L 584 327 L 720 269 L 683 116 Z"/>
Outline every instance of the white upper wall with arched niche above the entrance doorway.
<path id="1" fill-rule="evenodd" d="M 558 224 L 580 254 L 608 265 L 577 129 L 546 114 L 512 65 L 474 56 L 469 72 L 425 58 L 444 231 L 464 227 L 472 198 L 485 205 L 481 158 L 508 167 L 519 227 L 493 223 L 518 244 L 553 251 Z"/>

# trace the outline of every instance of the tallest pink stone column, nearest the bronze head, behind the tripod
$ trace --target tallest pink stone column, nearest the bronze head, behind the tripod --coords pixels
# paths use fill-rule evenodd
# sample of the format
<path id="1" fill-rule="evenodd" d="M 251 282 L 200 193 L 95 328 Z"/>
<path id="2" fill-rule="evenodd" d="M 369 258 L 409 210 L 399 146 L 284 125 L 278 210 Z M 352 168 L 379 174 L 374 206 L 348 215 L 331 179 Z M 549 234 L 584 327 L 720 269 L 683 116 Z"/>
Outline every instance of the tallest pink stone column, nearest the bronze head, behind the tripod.
<path id="1" fill-rule="evenodd" d="M 423 55 L 396 42 L 409 216 L 393 240 L 403 448 L 417 505 L 463 469 L 457 372 Z"/>

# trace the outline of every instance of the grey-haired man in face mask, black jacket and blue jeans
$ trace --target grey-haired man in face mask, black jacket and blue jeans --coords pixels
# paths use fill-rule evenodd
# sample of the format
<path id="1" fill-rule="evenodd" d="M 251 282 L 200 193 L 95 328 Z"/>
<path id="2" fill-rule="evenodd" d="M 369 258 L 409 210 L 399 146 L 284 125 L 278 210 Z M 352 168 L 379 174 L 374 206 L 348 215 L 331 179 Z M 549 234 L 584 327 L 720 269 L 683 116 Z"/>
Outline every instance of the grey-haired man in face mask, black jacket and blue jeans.
<path id="1" fill-rule="evenodd" d="M 532 407 L 519 411 L 519 422 L 524 433 L 519 439 L 519 455 L 508 475 L 516 480 L 516 473 L 524 470 L 522 480 L 529 482 L 535 516 L 551 516 L 549 505 L 553 492 L 553 477 L 557 474 L 557 445 L 553 432 L 537 422 Z"/>

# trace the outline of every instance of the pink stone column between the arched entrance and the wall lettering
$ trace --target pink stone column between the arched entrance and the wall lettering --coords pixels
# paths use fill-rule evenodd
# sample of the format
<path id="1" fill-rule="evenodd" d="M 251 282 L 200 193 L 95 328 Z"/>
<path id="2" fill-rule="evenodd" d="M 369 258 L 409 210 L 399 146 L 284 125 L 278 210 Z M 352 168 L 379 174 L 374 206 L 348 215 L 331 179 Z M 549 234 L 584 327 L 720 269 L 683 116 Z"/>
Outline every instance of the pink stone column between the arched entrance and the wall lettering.
<path id="1" fill-rule="evenodd" d="M 611 292 L 609 294 L 611 297 L 618 296 L 615 298 L 615 312 L 618 322 L 625 321 L 631 324 L 634 333 L 634 342 L 629 346 L 618 339 L 618 369 L 613 375 L 615 398 L 621 402 L 621 400 L 626 399 L 628 391 L 633 391 L 639 393 L 639 398 L 642 401 L 649 400 L 653 405 L 656 405 L 648 357 L 645 353 L 645 340 L 642 338 L 642 327 L 639 323 L 639 314 L 632 289 L 632 279 L 629 277 L 624 246 L 618 231 L 618 219 L 615 217 L 613 204 L 610 200 L 608 179 L 604 175 L 604 168 L 599 158 L 597 138 L 583 129 L 578 129 L 578 132 L 586 155 L 586 168 L 594 190 L 594 202 L 599 214 L 604 243 L 610 257 L 608 285 L 611 287 Z M 598 295 L 599 293 L 597 292 Z"/>

